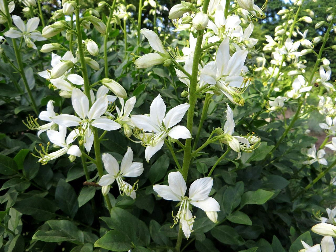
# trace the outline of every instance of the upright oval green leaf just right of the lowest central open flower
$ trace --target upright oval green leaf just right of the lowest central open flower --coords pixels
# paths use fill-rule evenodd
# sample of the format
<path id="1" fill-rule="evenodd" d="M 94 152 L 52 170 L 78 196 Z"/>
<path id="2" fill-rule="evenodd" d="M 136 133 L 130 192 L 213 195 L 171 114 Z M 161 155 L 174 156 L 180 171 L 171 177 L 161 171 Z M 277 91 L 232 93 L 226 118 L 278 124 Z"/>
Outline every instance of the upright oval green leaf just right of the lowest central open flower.
<path id="1" fill-rule="evenodd" d="M 223 207 L 226 214 L 230 214 L 239 206 L 243 193 L 244 183 L 242 181 L 237 182 L 234 186 L 227 187 L 223 194 Z"/>

